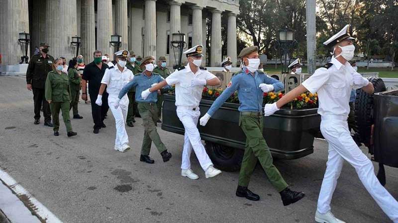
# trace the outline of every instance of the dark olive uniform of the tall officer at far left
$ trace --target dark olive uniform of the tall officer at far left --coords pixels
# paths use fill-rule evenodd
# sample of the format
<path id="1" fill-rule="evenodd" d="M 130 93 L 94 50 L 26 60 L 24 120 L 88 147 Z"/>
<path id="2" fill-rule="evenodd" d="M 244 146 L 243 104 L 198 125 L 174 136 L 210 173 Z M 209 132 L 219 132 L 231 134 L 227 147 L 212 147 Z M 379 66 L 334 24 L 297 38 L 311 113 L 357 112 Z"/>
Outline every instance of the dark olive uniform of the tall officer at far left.
<path id="1" fill-rule="evenodd" d="M 40 119 L 40 110 L 43 105 L 44 121 L 51 121 L 51 112 L 48 102 L 45 99 L 45 83 L 48 72 L 52 71 L 54 57 L 47 54 L 33 55 L 29 61 L 26 71 L 26 84 L 32 85 L 34 101 L 34 119 Z"/>

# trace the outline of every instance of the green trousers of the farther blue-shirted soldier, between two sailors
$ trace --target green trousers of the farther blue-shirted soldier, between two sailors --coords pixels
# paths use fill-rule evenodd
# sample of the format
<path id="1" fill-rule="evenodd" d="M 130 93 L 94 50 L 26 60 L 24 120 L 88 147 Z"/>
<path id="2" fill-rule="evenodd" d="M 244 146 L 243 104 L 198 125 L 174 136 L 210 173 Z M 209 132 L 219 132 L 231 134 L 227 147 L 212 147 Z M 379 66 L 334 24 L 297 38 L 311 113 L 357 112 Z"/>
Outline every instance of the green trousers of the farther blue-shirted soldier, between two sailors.
<path id="1" fill-rule="evenodd" d="M 144 139 L 142 140 L 141 154 L 149 155 L 152 141 L 155 143 L 159 152 L 166 150 L 165 144 L 160 140 L 156 130 L 156 121 L 158 118 L 158 108 L 155 103 L 138 102 L 138 111 L 141 114 L 142 125 L 144 125 Z"/>

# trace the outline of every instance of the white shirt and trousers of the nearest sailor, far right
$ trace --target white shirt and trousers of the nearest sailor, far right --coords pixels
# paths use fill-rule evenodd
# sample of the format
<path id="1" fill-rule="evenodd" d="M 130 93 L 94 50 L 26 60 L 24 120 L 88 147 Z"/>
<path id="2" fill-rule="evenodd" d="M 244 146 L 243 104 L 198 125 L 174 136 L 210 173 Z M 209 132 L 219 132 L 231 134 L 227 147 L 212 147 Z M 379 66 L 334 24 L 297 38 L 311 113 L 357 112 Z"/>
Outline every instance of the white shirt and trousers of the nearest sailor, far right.
<path id="1" fill-rule="evenodd" d="M 349 162 L 359 179 L 376 203 L 387 216 L 398 223 L 398 202 L 379 183 L 373 164 L 362 153 L 348 130 L 347 117 L 350 112 L 348 102 L 351 89 L 363 86 L 353 84 L 352 74 L 356 71 L 347 62 L 341 64 L 332 57 L 329 69 L 319 68 L 302 85 L 311 93 L 318 93 L 318 113 L 322 117 L 320 130 L 329 143 L 326 172 L 319 193 L 317 211 L 325 214 L 330 211 L 330 202 L 336 188 L 337 179 L 343 167 L 343 160 Z"/>

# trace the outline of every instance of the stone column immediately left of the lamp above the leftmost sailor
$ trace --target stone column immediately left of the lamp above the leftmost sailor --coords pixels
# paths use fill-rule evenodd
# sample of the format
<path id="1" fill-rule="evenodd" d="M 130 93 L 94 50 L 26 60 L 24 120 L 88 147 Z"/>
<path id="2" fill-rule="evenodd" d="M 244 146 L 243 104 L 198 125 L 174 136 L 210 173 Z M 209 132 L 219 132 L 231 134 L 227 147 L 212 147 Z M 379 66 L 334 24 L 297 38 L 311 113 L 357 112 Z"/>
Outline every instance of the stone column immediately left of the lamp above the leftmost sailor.
<path id="1" fill-rule="evenodd" d="M 113 34 L 112 0 L 98 0 L 97 5 L 97 49 L 102 51 L 102 55 L 108 54 L 113 58 L 109 47 L 110 35 Z"/>

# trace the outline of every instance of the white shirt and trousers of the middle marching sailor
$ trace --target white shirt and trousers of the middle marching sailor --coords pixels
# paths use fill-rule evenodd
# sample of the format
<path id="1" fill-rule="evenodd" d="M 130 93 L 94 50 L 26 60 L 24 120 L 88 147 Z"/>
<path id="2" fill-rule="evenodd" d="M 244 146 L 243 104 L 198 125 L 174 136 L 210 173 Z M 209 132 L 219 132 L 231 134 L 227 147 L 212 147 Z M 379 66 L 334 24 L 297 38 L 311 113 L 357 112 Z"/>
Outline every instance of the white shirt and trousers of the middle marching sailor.
<path id="1" fill-rule="evenodd" d="M 194 74 L 189 65 L 187 65 L 185 69 L 176 71 L 166 78 L 168 85 L 176 85 L 177 116 L 180 118 L 185 128 L 181 169 L 191 169 L 190 157 L 192 149 L 194 149 L 200 166 L 204 171 L 206 171 L 210 165 L 213 165 L 200 141 L 200 134 L 197 127 L 200 116 L 199 102 L 202 98 L 204 86 L 191 86 L 191 81 L 193 79 L 210 80 L 213 78 L 217 77 L 199 68 Z"/>

